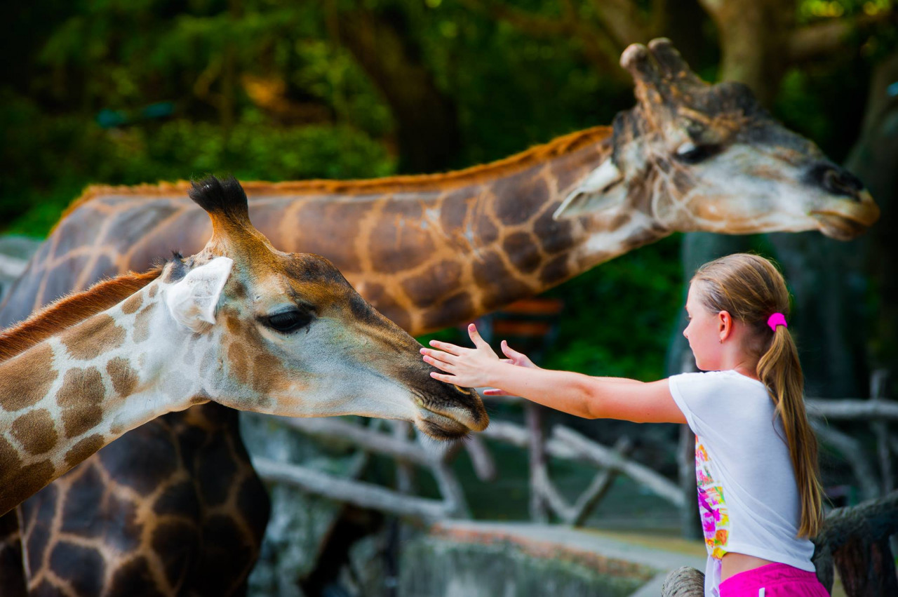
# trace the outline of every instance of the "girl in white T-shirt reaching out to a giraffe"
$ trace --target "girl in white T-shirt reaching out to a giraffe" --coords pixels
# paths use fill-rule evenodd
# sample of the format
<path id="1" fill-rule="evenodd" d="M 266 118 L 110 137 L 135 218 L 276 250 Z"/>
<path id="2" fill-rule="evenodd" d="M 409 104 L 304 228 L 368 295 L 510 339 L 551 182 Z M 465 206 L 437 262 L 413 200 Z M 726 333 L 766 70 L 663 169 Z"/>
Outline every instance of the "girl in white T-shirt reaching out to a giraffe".
<path id="1" fill-rule="evenodd" d="M 770 261 L 735 254 L 692 277 L 689 340 L 699 369 L 658 382 L 550 371 L 502 342 L 500 360 L 471 324 L 474 348 L 431 341 L 437 380 L 492 386 L 577 417 L 687 423 L 708 566 L 708 597 L 825 597 L 809 540 L 822 522 L 817 446 L 801 365 L 784 313 L 788 291 Z"/>

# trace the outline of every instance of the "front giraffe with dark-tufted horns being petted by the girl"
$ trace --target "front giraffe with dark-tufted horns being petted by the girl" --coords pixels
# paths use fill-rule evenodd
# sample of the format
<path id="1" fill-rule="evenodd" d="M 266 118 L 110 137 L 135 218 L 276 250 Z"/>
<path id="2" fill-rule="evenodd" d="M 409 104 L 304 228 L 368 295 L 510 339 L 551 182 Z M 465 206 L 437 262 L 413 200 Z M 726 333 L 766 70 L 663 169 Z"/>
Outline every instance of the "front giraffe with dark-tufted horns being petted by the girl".
<path id="1" fill-rule="evenodd" d="M 438 387 L 432 370 L 418 364 L 414 338 L 374 311 L 327 259 L 275 250 L 251 226 L 236 180 L 204 180 L 190 197 L 213 223 L 203 250 L 187 259 L 176 255 L 145 274 L 101 282 L 0 336 L 0 514 L 128 430 L 211 401 L 291 417 L 404 419 L 437 439 L 488 424 L 477 393 Z M 85 469 L 74 483 L 92 473 L 101 471 Z M 149 581 L 144 592 L 232 593 L 233 587 L 213 584 L 215 575 L 195 579 L 185 570 L 184 552 L 197 530 L 165 511 L 185 483 L 191 484 L 189 476 L 174 475 L 148 494 L 128 487 L 145 500 L 140 505 L 93 496 L 109 499 L 114 513 L 129 510 L 135 527 L 154 519 L 136 538 L 149 544 L 140 557 L 122 557 L 129 554 L 128 541 L 119 536 L 110 542 L 115 529 L 98 538 L 74 519 L 55 529 L 29 527 L 44 543 L 44 549 L 29 545 L 29 590 L 134 594 L 139 568 Z M 224 493 L 240 499 L 239 492 Z M 207 518 L 216 516 L 218 505 L 227 507 L 205 504 Z M 83 501 L 71 506 L 90 507 Z M 207 529 L 225 539 L 227 531 L 251 533 L 213 524 Z M 212 547 L 212 554 L 196 554 L 209 560 L 200 562 L 211 568 L 207 573 L 233 559 L 225 552 L 232 546 Z M 107 550 L 118 552 L 113 557 L 123 563 L 123 574 L 108 566 Z M 69 557 L 93 568 L 90 585 L 82 585 L 84 577 L 66 577 Z"/>

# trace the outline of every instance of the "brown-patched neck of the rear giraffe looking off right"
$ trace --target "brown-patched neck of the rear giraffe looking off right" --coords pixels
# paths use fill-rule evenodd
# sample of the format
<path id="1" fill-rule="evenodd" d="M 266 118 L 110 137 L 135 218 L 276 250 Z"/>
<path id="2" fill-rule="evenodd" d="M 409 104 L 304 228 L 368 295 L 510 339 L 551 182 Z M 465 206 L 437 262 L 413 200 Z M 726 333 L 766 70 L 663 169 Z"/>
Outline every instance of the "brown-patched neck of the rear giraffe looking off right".
<path id="1" fill-rule="evenodd" d="M 609 129 L 565 138 L 468 171 L 260 193 L 254 207 L 260 219 L 280 217 L 276 246 L 329 257 L 384 315 L 420 334 L 539 294 L 667 234 L 627 202 L 554 220 L 560 201 L 612 151 Z"/>

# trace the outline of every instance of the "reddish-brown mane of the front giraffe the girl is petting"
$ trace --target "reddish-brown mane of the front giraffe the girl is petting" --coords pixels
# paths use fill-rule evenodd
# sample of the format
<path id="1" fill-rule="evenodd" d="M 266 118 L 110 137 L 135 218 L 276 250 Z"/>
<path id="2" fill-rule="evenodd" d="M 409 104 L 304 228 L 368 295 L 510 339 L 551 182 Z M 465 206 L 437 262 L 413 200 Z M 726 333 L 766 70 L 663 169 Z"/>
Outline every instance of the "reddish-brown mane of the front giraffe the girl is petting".
<path id="1" fill-rule="evenodd" d="M 0 363 L 124 301 L 159 277 L 162 270 L 160 265 L 141 274 L 128 272 L 102 280 L 84 292 L 63 296 L 28 319 L 0 331 Z"/>

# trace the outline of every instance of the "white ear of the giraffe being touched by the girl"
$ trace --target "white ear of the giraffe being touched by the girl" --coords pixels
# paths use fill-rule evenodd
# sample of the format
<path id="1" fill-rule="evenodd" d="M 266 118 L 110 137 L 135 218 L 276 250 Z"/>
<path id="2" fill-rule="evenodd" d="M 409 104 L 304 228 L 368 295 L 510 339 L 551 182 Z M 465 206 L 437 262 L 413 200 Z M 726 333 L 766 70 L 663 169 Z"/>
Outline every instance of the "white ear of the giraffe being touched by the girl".
<path id="1" fill-rule="evenodd" d="M 232 267 L 233 259 L 216 257 L 165 288 L 163 300 L 174 320 L 195 332 L 215 323 L 216 304 Z"/>

